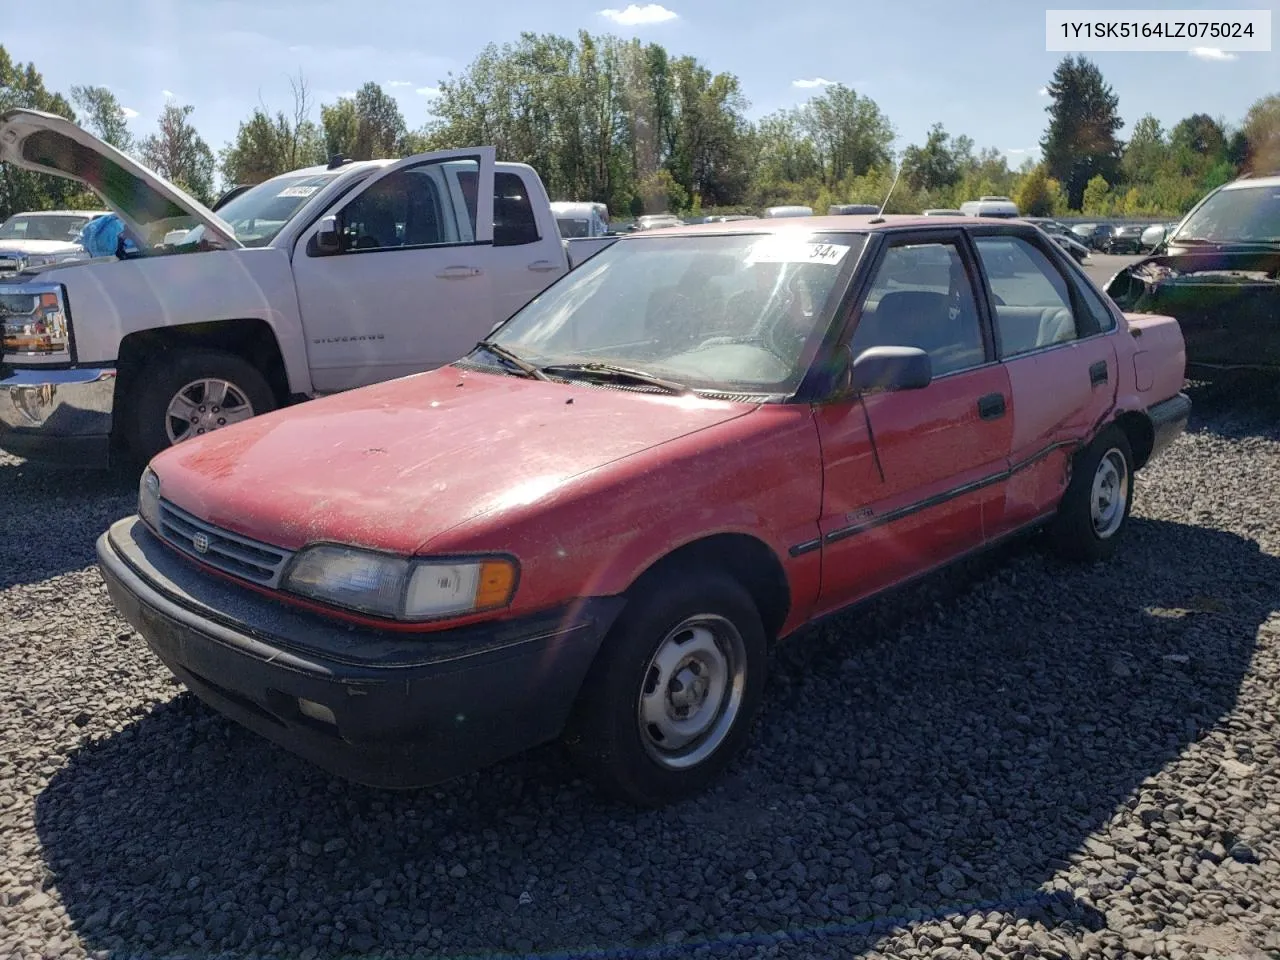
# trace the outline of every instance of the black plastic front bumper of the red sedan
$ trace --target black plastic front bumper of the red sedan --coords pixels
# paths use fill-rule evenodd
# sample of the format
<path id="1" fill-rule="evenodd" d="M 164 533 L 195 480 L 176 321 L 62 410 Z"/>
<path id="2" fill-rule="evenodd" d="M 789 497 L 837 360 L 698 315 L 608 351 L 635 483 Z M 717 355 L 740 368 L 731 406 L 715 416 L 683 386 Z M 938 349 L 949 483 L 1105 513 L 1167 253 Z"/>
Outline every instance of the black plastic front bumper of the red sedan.
<path id="1" fill-rule="evenodd" d="M 406 635 L 218 579 L 137 517 L 102 534 L 97 557 L 120 613 L 196 696 L 332 773 L 379 787 L 429 786 L 557 737 L 623 603 L 595 598 Z M 323 719 L 300 698 L 320 704 Z"/>

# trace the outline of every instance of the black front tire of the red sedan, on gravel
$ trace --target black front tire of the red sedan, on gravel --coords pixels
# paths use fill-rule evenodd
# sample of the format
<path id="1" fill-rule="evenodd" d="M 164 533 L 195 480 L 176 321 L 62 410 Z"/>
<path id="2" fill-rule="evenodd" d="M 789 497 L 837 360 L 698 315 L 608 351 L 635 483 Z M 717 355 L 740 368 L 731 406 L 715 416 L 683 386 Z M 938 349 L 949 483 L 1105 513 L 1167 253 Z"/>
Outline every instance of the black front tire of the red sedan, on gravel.
<path id="1" fill-rule="evenodd" d="M 701 618 L 696 627 L 680 630 L 695 618 Z M 726 687 L 730 695 L 717 698 L 718 686 L 708 680 L 714 668 L 699 662 L 707 672 L 692 673 L 694 680 L 709 684 L 709 689 L 690 718 L 708 718 L 709 727 L 705 736 L 691 741 L 685 754 L 691 760 L 689 765 L 676 767 L 673 762 L 685 762 L 680 751 L 663 751 L 654 736 L 659 727 L 641 721 L 643 689 L 648 685 L 654 691 L 648 698 L 650 704 L 667 710 L 664 722 L 678 722 L 671 712 L 681 708 L 672 705 L 672 698 L 685 691 L 698 698 L 696 682 L 681 686 L 681 677 L 687 681 L 694 667 L 672 669 L 671 682 L 659 684 L 663 672 L 654 659 L 663 648 L 692 653 L 708 649 L 708 635 L 714 637 L 716 649 L 730 652 L 726 663 L 735 658 L 741 663 L 744 675 L 735 698 L 731 681 L 736 664 L 728 666 L 724 676 L 730 678 Z M 736 580 L 714 571 L 660 571 L 639 586 L 604 639 L 575 705 L 566 742 L 584 773 L 605 794 L 625 803 L 660 806 L 698 794 L 746 746 L 764 692 L 765 653 L 759 611 Z M 713 699 L 718 703 L 712 705 Z M 699 756 L 703 750 L 707 754 Z"/>

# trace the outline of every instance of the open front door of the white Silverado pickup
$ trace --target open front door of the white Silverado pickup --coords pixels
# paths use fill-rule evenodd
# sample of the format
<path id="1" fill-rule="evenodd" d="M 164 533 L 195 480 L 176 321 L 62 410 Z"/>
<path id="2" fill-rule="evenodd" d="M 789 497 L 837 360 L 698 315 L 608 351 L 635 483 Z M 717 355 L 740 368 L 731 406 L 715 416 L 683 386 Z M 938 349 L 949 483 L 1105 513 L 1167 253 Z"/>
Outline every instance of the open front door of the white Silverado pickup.
<path id="1" fill-rule="evenodd" d="M 442 366 L 493 326 L 493 147 L 401 160 L 326 211 L 337 252 L 314 239 L 326 218 L 300 234 L 293 276 L 317 392 Z"/>

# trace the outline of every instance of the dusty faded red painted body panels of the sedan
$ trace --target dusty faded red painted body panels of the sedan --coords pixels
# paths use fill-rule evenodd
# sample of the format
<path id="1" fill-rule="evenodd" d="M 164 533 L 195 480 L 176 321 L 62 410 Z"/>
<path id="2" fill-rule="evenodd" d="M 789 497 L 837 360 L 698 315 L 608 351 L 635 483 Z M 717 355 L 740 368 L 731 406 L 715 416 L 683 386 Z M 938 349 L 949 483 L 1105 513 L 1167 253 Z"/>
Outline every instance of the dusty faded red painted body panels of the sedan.
<path id="1" fill-rule="evenodd" d="M 878 229 L 856 216 L 767 229 L 801 227 Z M 1100 361 L 1102 387 L 1088 372 Z M 787 634 L 1051 513 L 1073 453 L 1116 416 L 1175 394 L 1183 370 L 1176 323 L 1153 316 L 870 396 L 865 412 L 854 399 L 735 403 L 445 367 L 257 417 L 154 468 L 184 509 L 291 549 L 516 556 L 511 608 L 483 617 L 617 594 L 681 545 L 750 536 L 786 573 Z M 1005 398 L 1005 416 L 979 417 L 987 394 Z"/>

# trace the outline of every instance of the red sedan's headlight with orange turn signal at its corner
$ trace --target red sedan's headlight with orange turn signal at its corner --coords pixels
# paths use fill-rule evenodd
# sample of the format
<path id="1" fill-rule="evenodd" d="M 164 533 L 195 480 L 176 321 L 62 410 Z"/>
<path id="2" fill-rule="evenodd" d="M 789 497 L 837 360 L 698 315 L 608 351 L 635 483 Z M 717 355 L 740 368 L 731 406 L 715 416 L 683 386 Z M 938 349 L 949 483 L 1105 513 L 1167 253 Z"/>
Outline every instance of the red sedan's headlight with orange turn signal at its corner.
<path id="1" fill-rule="evenodd" d="M 506 558 L 410 559 L 319 544 L 298 553 L 284 589 L 376 617 L 422 621 L 506 607 L 516 573 Z"/>

